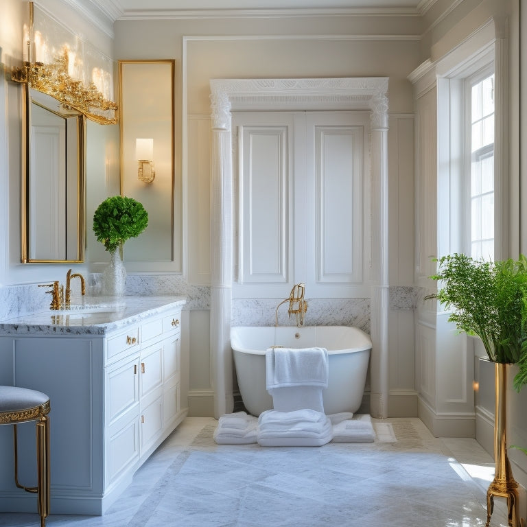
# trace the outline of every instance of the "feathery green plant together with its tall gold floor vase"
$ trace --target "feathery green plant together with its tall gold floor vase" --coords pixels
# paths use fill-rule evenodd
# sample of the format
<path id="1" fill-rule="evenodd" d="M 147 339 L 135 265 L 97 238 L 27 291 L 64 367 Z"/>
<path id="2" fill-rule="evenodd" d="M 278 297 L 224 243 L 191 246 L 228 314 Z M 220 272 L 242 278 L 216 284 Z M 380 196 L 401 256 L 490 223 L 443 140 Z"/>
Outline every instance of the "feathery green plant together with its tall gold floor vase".
<path id="1" fill-rule="evenodd" d="M 495 366 L 494 460 L 495 477 L 487 491 L 487 525 L 494 496 L 507 498 L 513 525 L 524 525 L 518 511 L 518 484 L 506 453 L 506 371 L 517 364 L 513 385 L 519 391 L 527 384 L 527 258 L 482 261 L 453 254 L 438 259 L 441 281 L 436 293 L 449 321 L 460 331 L 478 336 Z"/>

